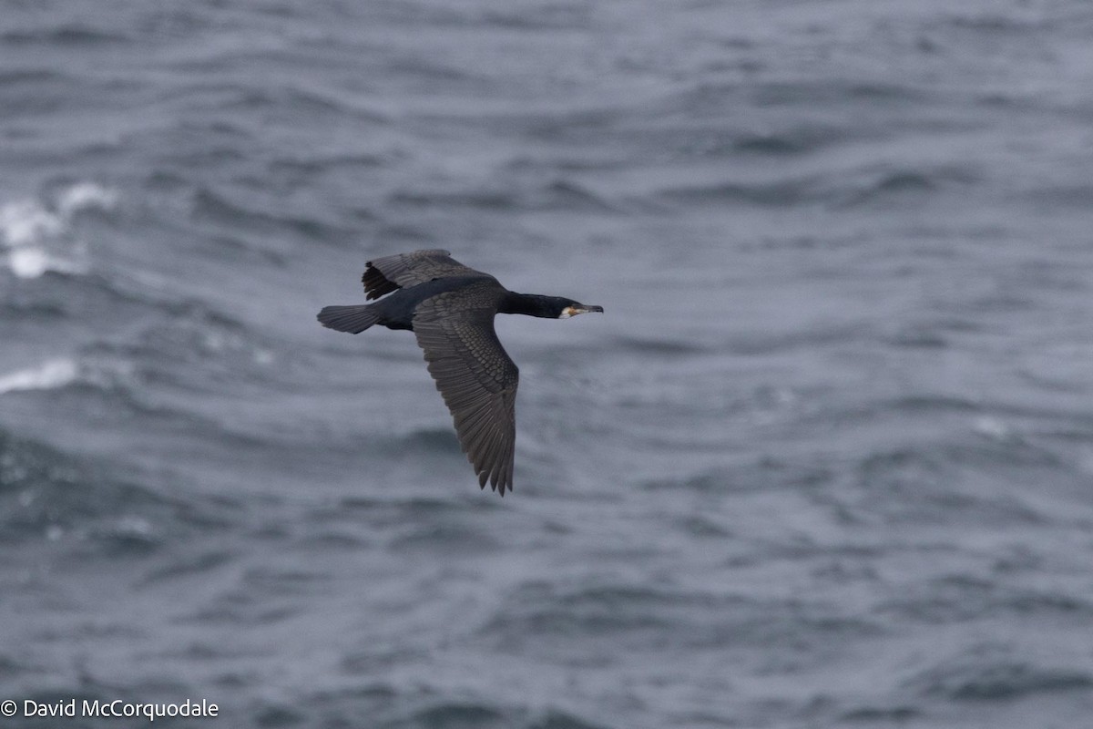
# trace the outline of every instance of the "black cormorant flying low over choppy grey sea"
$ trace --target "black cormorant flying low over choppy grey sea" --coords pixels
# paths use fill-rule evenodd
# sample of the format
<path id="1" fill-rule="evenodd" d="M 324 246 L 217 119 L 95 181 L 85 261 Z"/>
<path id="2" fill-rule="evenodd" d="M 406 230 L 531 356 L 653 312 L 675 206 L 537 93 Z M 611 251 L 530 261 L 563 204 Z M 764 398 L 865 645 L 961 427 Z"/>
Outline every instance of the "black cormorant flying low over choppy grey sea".
<path id="1" fill-rule="evenodd" d="M 354 334 L 377 324 L 413 331 L 479 485 L 485 489 L 489 481 L 504 496 L 513 489 L 520 372 L 497 339 L 494 315 L 568 319 L 603 307 L 514 293 L 450 256 L 415 250 L 368 261 L 361 279 L 365 299 L 390 296 L 375 304 L 327 306 L 318 318 L 324 327 Z"/>

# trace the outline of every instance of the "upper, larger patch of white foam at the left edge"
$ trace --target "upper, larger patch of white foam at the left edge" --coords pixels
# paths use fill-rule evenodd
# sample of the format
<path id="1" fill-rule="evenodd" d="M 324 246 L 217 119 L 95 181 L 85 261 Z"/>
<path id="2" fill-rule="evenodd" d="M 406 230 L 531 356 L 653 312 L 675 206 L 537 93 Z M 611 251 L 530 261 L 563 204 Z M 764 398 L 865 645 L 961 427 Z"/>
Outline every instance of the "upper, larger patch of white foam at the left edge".
<path id="1" fill-rule="evenodd" d="M 83 181 L 57 192 L 51 204 L 36 199 L 0 204 L 0 249 L 7 250 L 8 268 L 21 279 L 85 272 L 86 246 L 73 236 L 72 219 L 82 211 L 111 210 L 117 201 L 117 191 Z"/>

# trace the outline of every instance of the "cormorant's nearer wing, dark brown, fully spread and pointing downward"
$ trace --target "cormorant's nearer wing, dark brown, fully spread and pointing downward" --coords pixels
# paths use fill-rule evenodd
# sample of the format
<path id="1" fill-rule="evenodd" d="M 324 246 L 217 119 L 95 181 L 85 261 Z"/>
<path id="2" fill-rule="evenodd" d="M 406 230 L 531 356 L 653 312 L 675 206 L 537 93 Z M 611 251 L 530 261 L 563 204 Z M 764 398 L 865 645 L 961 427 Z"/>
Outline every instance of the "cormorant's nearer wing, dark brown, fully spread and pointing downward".
<path id="1" fill-rule="evenodd" d="M 520 372 L 493 328 L 501 292 L 482 282 L 427 298 L 418 306 L 413 331 L 479 485 L 489 481 L 504 496 L 513 489 Z"/>

